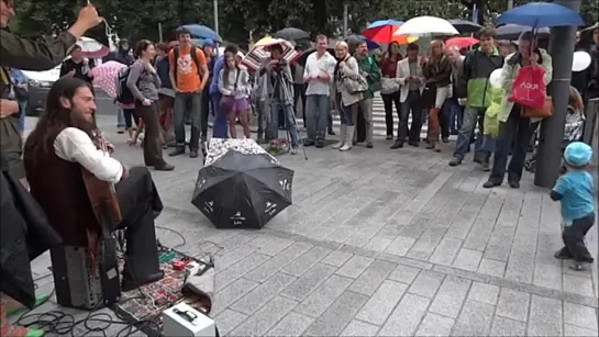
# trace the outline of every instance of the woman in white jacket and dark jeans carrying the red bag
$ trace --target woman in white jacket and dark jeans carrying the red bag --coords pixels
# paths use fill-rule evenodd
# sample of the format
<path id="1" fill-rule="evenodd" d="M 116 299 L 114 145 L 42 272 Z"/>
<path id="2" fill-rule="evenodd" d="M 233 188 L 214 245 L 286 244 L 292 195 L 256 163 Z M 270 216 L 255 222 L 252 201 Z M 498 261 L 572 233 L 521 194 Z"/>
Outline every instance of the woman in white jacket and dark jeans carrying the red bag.
<path id="1" fill-rule="evenodd" d="M 531 50 L 533 50 L 531 53 Z M 522 106 L 514 104 L 509 100 L 513 82 L 518 71 L 525 66 L 540 66 L 545 70 L 543 81 L 545 85 L 551 82 L 553 67 L 551 56 L 544 49 L 534 46 L 534 36 L 532 32 L 524 32 L 520 36 L 518 52 L 509 55 L 503 64 L 501 71 L 502 89 L 506 96 L 501 100 L 501 110 L 499 111 L 499 141 L 495 150 L 495 159 L 489 180 L 484 187 L 490 189 L 501 186 L 506 176 L 506 166 L 510 150 L 512 157 L 508 166 L 508 183 L 512 189 L 520 188 L 520 179 L 526 160 L 526 145 L 534 132 L 531 127 L 531 119 L 520 115 Z M 513 149 L 512 149 L 513 141 Z"/>

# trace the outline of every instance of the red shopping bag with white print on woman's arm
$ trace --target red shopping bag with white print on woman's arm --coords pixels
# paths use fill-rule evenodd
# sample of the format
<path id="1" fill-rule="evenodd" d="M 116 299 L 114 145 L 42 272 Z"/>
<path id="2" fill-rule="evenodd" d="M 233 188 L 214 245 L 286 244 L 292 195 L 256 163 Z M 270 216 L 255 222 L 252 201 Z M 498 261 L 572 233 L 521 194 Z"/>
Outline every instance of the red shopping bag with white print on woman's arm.
<path id="1" fill-rule="evenodd" d="M 510 101 L 523 106 L 543 110 L 545 104 L 545 69 L 540 66 L 520 68 L 513 82 Z"/>

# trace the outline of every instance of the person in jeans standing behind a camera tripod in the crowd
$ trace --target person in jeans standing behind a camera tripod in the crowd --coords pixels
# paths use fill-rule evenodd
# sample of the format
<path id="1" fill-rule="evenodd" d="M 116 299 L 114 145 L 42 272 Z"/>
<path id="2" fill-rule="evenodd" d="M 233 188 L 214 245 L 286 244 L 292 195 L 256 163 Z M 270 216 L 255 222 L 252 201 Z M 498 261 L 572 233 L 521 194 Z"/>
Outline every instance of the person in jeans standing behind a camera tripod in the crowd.
<path id="1" fill-rule="evenodd" d="M 279 110 L 282 110 L 285 124 L 291 138 L 291 154 L 298 153 L 298 127 L 293 112 L 293 79 L 289 64 L 282 58 L 282 46 L 270 46 L 270 57 L 267 58 L 259 70 L 259 77 L 267 78 L 260 81 L 267 86 L 268 98 L 270 102 L 270 119 L 267 131 L 269 137 L 278 138 L 278 116 Z M 267 137 L 267 138 L 269 138 Z"/>

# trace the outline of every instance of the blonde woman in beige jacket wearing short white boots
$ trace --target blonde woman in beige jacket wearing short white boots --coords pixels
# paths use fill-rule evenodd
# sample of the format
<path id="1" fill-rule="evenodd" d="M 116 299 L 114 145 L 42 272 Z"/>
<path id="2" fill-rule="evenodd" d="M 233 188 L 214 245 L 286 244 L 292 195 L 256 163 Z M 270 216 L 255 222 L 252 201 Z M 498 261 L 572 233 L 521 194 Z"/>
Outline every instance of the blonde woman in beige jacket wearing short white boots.
<path id="1" fill-rule="evenodd" d="M 332 92 L 334 93 L 334 106 L 341 117 L 341 134 L 340 142 L 332 147 L 346 151 L 352 149 L 358 102 L 363 99 L 362 92 L 353 92 L 347 81 L 358 82 L 362 80 L 365 82 L 365 79 L 359 74 L 357 60 L 350 55 L 350 47 L 346 42 L 337 42 L 335 56 L 337 64 L 334 71 Z"/>

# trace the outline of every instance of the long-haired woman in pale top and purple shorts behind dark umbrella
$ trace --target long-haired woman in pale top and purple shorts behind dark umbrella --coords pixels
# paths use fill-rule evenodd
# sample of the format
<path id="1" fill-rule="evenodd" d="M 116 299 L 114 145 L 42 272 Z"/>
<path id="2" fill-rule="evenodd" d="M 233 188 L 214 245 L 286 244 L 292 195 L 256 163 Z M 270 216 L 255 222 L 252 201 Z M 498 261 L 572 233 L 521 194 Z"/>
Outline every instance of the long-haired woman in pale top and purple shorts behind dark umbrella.
<path id="1" fill-rule="evenodd" d="M 243 134 L 249 138 L 249 74 L 237 65 L 233 53 L 224 55 L 224 67 L 219 72 L 219 91 L 221 113 L 228 116 L 231 138 L 237 137 L 237 117 L 243 127 Z"/>

